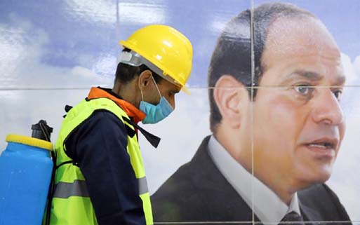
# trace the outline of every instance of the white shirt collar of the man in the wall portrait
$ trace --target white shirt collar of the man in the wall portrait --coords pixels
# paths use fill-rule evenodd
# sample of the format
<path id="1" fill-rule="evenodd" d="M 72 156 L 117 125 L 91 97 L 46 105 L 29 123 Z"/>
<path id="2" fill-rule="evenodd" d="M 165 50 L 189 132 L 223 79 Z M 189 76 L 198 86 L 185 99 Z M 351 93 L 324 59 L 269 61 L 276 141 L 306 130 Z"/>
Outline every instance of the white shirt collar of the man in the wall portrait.
<path id="1" fill-rule="evenodd" d="M 295 193 L 290 205 L 286 205 L 269 187 L 252 176 L 212 135 L 208 149 L 213 162 L 263 224 L 278 224 L 286 213 L 300 213 L 298 194 Z M 251 190 L 254 191 L 251 191 Z M 253 195 L 252 195 L 253 193 Z M 252 204 L 253 203 L 253 204 Z"/>

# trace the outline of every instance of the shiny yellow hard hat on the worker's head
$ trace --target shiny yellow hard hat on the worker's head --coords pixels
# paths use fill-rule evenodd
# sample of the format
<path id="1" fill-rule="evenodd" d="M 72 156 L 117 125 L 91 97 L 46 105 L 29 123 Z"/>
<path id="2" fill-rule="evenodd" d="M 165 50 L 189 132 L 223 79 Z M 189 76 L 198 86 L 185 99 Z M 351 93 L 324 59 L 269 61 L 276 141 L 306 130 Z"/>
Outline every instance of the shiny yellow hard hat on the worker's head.
<path id="1" fill-rule="evenodd" d="M 130 62 L 134 55 L 143 57 L 142 64 L 155 69 L 154 72 L 160 71 L 160 76 L 189 93 L 185 83 L 192 70 L 192 44 L 178 30 L 166 25 L 148 25 L 119 43 L 131 49 L 131 55 L 123 55 L 121 62 Z"/>

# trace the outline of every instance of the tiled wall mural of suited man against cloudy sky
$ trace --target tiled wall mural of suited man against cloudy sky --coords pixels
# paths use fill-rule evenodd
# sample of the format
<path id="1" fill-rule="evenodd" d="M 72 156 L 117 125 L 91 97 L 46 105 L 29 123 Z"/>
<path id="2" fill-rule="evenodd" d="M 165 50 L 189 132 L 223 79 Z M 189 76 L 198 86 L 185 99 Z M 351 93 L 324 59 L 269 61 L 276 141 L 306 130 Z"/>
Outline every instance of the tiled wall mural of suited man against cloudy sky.
<path id="1" fill-rule="evenodd" d="M 8 133 L 112 88 L 122 46 L 164 24 L 192 42 L 192 93 L 139 135 L 154 221 L 360 221 L 360 3 L 61 0 L 0 3 L 0 151 Z M 342 207 L 343 205 L 343 207 Z M 338 216 L 337 216 L 338 215 Z M 284 220 L 283 220 L 284 221 Z"/>

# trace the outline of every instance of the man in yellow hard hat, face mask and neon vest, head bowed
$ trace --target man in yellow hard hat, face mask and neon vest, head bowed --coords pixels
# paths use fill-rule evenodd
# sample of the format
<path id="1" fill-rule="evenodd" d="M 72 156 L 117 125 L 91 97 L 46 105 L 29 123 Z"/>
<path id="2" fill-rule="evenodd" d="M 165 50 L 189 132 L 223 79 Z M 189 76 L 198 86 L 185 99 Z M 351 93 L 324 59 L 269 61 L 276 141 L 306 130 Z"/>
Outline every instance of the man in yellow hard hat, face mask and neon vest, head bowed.
<path id="1" fill-rule="evenodd" d="M 114 87 L 91 88 L 70 109 L 55 144 L 57 170 L 51 224 L 153 224 L 138 126 L 157 123 L 186 91 L 192 45 L 172 27 L 149 25 L 120 41 Z"/>

